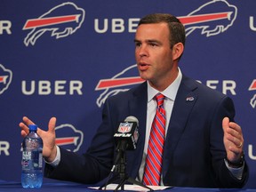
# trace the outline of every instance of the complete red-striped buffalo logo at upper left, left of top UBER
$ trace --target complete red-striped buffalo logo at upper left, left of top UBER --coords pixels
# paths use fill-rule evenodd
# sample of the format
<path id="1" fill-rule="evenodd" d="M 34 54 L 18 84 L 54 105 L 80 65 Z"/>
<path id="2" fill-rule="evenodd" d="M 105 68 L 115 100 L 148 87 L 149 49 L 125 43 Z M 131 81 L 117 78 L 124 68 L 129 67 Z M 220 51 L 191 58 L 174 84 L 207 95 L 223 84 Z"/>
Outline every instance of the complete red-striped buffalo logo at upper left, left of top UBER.
<path id="1" fill-rule="evenodd" d="M 64 12 L 64 14 L 63 14 Z M 85 11 L 74 3 L 64 3 L 53 7 L 39 18 L 27 20 L 23 30 L 32 29 L 24 39 L 24 44 L 36 44 L 44 33 L 51 33 L 56 39 L 74 34 L 84 22 Z"/>

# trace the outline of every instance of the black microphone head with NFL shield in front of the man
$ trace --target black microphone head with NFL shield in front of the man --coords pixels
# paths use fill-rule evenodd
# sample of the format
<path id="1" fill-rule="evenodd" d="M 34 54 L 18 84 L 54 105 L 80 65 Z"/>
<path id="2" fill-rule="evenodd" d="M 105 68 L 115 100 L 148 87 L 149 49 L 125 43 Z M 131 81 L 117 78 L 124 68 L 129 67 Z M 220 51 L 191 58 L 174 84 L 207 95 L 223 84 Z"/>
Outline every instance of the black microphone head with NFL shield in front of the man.
<path id="1" fill-rule="evenodd" d="M 135 116 L 127 116 L 124 122 L 121 122 L 114 134 L 116 150 L 134 150 L 136 149 L 139 138 L 139 121 Z"/>

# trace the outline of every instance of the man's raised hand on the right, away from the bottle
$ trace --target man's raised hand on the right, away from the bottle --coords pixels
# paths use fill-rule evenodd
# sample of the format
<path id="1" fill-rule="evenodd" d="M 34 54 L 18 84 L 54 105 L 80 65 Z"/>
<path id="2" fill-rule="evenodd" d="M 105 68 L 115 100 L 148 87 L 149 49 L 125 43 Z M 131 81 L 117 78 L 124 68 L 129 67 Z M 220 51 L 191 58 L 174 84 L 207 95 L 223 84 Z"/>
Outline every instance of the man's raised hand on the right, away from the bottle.
<path id="1" fill-rule="evenodd" d="M 238 124 L 229 122 L 228 117 L 223 118 L 222 128 L 224 131 L 223 142 L 226 148 L 228 161 L 236 163 L 243 155 L 244 138 L 242 129 Z"/>

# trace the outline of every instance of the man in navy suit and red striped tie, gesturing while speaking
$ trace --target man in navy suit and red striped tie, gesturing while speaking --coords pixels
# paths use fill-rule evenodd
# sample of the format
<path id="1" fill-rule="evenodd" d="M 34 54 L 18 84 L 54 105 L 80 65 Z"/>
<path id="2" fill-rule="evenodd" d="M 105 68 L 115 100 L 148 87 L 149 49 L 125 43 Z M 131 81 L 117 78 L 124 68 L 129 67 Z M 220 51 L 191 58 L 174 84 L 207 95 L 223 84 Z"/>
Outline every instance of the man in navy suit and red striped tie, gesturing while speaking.
<path id="1" fill-rule="evenodd" d="M 170 14 L 150 14 L 140 20 L 134 42 L 140 76 L 146 82 L 106 100 L 102 123 L 83 156 L 55 145 L 55 117 L 49 122 L 48 132 L 38 130 L 48 162 L 45 176 L 84 183 L 106 178 L 116 156 L 116 128 L 127 116 L 136 116 L 140 138 L 137 149 L 126 153 L 130 177 L 147 185 L 242 188 L 248 168 L 243 133 L 234 123 L 233 102 L 181 73 L 178 63 L 184 50 L 185 29 L 180 20 Z M 158 92 L 162 93 L 162 104 L 156 109 Z M 162 112 L 157 112 L 158 107 Z M 33 122 L 28 117 L 23 117 L 23 122 L 21 135 L 25 136 L 27 125 Z M 152 122 L 164 129 L 163 143 L 159 144 L 164 151 L 159 152 L 157 163 L 148 165 L 148 158 L 152 158 L 149 154 L 154 156 L 156 152 L 152 151 L 158 150 L 151 140 Z M 150 169 L 158 163 L 158 176 L 152 176 Z"/>

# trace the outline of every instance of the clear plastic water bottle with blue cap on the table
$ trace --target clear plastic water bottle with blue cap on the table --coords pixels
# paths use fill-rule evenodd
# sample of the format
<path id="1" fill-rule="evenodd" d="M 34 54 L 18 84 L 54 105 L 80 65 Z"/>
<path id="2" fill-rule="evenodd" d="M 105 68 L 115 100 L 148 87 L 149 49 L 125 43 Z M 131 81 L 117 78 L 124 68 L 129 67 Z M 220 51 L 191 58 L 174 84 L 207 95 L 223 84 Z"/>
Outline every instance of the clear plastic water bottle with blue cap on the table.
<path id="1" fill-rule="evenodd" d="M 21 185 L 41 188 L 43 183 L 43 140 L 36 133 L 37 125 L 28 126 L 29 133 L 22 142 Z"/>

